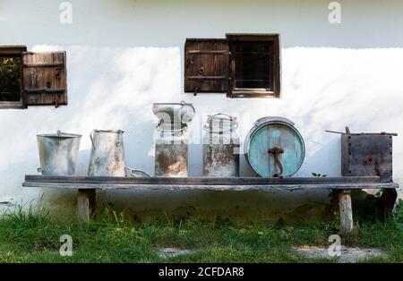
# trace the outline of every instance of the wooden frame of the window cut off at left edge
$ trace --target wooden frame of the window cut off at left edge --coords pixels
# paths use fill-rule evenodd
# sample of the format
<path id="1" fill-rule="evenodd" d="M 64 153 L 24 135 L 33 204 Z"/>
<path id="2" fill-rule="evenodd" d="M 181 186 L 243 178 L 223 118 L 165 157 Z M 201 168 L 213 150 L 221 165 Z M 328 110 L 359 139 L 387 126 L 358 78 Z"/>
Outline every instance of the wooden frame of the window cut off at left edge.
<path id="1" fill-rule="evenodd" d="M 0 57 L 20 57 L 21 60 L 21 82 L 20 82 L 20 101 L 0 101 L 0 109 L 24 109 L 26 106 L 23 101 L 23 61 L 22 55 L 27 51 L 26 46 L 16 45 L 16 46 L 0 46 Z"/>

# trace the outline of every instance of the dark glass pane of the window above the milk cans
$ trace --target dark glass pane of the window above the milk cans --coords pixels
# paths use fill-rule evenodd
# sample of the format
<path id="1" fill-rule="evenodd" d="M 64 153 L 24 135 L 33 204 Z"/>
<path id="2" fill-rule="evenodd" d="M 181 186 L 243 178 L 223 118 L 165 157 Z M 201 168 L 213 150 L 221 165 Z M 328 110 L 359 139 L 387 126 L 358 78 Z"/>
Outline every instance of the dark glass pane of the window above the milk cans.
<path id="1" fill-rule="evenodd" d="M 236 88 L 272 89 L 270 44 L 236 43 Z"/>

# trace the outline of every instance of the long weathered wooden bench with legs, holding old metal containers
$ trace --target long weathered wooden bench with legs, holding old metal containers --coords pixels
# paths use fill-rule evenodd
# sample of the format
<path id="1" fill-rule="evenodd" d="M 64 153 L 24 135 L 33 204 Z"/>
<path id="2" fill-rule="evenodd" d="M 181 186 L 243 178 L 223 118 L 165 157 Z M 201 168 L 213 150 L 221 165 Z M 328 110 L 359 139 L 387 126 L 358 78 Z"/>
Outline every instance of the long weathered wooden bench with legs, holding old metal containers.
<path id="1" fill-rule="evenodd" d="M 353 229 L 351 205 L 352 190 L 382 189 L 382 207 L 385 212 L 393 209 L 397 199 L 398 183 L 382 183 L 378 176 L 343 177 L 103 177 L 103 176 L 48 176 L 26 175 L 25 187 L 76 189 L 78 190 L 78 215 L 88 222 L 96 206 L 96 190 L 134 189 L 146 191 L 298 191 L 334 190 L 339 192 L 339 213 L 341 230 Z"/>

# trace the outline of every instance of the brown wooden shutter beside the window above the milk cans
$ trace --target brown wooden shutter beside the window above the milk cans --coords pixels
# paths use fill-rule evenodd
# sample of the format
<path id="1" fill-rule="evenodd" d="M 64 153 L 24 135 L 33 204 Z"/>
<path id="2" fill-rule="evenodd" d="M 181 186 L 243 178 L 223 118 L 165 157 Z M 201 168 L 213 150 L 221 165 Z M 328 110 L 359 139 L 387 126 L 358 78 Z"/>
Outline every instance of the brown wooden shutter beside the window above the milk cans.
<path id="1" fill-rule="evenodd" d="M 227 39 L 186 39 L 184 91 L 227 92 L 229 55 Z"/>

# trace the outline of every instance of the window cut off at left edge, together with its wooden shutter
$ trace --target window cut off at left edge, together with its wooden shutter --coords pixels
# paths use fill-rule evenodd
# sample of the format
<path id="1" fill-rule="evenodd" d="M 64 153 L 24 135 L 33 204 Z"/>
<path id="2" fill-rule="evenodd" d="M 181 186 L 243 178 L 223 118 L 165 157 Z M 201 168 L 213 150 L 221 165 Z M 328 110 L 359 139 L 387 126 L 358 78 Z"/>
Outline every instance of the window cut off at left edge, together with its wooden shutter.
<path id="1" fill-rule="evenodd" d="M 65 52 L 0 47 L 0 109 L 67 105 Z"/>

